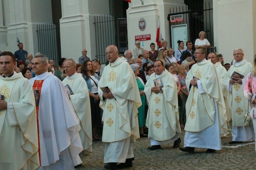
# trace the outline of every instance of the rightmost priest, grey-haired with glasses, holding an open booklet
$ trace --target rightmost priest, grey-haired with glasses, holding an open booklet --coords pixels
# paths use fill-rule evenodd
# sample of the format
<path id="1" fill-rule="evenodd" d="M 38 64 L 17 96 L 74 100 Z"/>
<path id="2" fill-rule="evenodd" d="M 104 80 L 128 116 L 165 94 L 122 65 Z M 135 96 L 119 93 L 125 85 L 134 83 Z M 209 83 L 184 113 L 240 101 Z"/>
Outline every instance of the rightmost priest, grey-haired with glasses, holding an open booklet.
<path id="1" fill-rule="evenodd" d="M 247 62 L 243 57 L 242 49 L 234 49 L 234 64 L 229 68 L 224 83 L 228 90 L 228 103 L 231 108 L 232 118 L 232 141 L 229 144 L 242 143 L 242 141 L 255 140 L 253 126 L 245 126 L 244 115 L 248 111 L 248 100 L 244 97 L 243 89 L 246 75 L 253 70 L 253 65 Z M 242 74 L 242 79 L 231 79 L 231 75 L 236 71 Z M 249 110 L 250 111 L 250 110 Z"/>

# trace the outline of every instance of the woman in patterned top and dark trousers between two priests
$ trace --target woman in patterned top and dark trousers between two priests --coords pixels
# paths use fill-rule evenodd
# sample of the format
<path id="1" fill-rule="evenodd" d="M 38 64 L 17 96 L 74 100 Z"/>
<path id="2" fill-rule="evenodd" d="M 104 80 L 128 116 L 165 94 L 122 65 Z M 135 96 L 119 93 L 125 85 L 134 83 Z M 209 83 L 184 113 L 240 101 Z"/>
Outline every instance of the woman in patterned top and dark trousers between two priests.
<path id="1" fill-rule="evenodd" d="M 181 128 L 184 128 L 186 124 L 186 101 L 188 97 L 188 90 L 186 86 L 186 75 L 185 75 L 185 66 L 184 65 L 178 65 L 177 66 L 177 77 L 179 78 L 180 84 L 181 84 L 181 92 L 182 92 L 182 101 L 180 104 L 180 125 Z"/>

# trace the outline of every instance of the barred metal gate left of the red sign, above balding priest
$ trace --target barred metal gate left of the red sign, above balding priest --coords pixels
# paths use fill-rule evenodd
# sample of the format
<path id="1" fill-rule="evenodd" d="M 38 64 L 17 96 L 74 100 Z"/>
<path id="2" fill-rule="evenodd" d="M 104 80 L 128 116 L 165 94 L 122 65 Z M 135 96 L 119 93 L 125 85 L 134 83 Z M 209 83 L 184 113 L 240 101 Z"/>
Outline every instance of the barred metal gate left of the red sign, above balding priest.
<path id="1" fill-rule="evenodd" d="M 94 17 L 96 37 L 96 58 L 101 63 L 106 62 L 105 48 L 109 45 L 116 45 L 119 53 L 128 48 L 127 19 L 114 19 L 110 15 Z"/>

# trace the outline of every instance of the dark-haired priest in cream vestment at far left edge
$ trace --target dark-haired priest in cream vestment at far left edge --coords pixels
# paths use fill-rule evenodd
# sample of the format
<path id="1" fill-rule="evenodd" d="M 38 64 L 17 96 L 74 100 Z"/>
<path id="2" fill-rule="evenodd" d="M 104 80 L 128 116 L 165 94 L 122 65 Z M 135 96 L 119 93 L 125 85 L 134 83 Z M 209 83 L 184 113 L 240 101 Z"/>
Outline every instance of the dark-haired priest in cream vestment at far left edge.
<path id="1" fill-rule="evenodd" d="M 37 115 L 32 86 L 14 72 L 15 56 L 0 54 L 0 169 L 37 169 Z"/>

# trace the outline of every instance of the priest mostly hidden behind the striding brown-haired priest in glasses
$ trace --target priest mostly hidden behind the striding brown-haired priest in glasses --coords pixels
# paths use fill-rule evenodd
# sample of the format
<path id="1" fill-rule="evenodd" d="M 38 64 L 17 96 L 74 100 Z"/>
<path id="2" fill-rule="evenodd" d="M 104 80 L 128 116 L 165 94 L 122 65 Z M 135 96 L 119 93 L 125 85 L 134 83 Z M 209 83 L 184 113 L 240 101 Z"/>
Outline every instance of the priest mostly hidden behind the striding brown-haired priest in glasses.
<path id="1" fill-rule="evenodd" d="M 219 84 L 221 85 L 226 109 L 227 109 L 227 126 L 229 126 L 229 121 L 231 120 L 231 110 L 228 104 L 228 90 L 226 88 L 226 85 L 224 84 L 224 77 L 227 74 L 227 70 L 225 67 L 222 66 L 221 62 L 217 62 L 217 54 L 215 52 L 211 52 L 207 56 L 208 60 L 211 60 L 212 64 L 214 64 L 217 76 L 219 78 Z M 222 134 L 225 132 L 222 132 Z"/>

